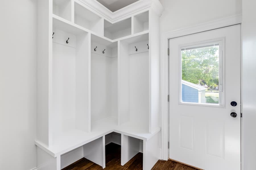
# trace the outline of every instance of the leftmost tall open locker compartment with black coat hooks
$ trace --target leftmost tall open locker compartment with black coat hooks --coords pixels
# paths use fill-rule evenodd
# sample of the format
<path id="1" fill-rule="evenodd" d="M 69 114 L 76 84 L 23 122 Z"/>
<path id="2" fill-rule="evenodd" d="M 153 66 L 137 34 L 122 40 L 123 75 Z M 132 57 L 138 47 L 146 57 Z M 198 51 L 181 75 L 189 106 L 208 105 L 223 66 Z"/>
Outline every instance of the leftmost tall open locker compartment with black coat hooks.
<path id="1" fill-rule="evenodd" d="M 52 112 L 55 139 L 73 130 L 90 129 L 88 103 L 89 35 L 53 19 Z M 68 42 L 68 43 L 67 43 Z"/>

